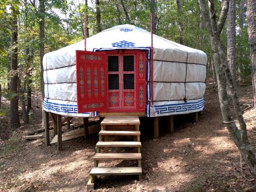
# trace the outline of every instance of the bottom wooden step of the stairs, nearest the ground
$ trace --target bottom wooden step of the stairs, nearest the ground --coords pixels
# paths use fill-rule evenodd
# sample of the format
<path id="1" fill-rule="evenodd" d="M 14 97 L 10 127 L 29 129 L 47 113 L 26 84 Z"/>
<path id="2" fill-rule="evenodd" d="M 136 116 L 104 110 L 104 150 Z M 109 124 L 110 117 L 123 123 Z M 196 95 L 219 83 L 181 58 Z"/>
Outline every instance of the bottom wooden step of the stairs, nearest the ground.
<path id="1" fill-rule="evenodd" d="M 141 167 L 93 167 L 90 175 L 141 175 Z"/>

